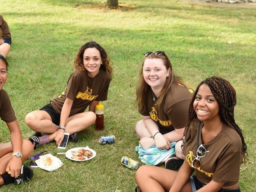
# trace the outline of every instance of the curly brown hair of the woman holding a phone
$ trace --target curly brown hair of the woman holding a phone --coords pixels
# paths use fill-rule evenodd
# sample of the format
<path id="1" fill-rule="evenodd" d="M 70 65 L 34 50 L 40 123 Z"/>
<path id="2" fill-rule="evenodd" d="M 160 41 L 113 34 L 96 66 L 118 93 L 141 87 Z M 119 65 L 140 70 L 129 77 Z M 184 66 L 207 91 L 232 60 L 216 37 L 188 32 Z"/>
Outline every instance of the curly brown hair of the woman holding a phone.
<path id="1" fill-rule="evenodd" d="M 113 67 L 111 66 L 112 62 L 110 61 L 110 58 L 108 57 L 108 54 L 106 53 L 104 48 L 102 48 L 102 46 L 100 46 L 95 41 L 86 42 L 84 45 L 82 45 L 79 48 L 78 52 L 76 53 L 75 59 L 74 59 L 73 69 L 80 70 L 80 71 L 86 71 L 86 69 L 84 68 L 83 57 L 84 57 L 84 51 L 87 48 L 98 49 L 98 51 L 100 52 L 100 57 L 102 58 L 102 65 L 100 65 L 100 68 L 102 70 L 106 71 L 108 74 L 110 74 L 110 78 L 112 79 L 112 77 L 113 77 L 113 74 L 112 74 Z"/>

